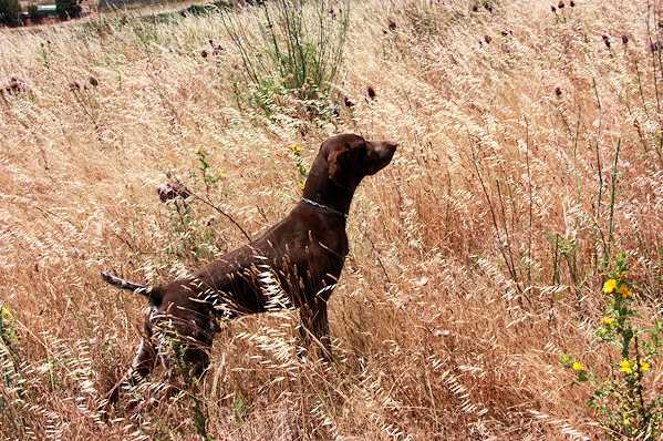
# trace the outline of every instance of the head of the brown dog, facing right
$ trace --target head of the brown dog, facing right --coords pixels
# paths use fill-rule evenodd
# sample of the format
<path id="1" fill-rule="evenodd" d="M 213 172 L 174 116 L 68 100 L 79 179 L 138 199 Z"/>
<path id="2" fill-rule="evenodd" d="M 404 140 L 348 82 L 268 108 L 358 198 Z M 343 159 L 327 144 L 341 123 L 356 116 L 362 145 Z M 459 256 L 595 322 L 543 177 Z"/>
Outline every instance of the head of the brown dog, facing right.
<path id="1" fill-rule="evenodd" d="M 354 134 L 332 136 L 321 147 L 329 178 L 346 188 L 354 188 L 363 177 L 380 172 L 392 161 L 395 152 L 395 143 L 366 141 Z"/>

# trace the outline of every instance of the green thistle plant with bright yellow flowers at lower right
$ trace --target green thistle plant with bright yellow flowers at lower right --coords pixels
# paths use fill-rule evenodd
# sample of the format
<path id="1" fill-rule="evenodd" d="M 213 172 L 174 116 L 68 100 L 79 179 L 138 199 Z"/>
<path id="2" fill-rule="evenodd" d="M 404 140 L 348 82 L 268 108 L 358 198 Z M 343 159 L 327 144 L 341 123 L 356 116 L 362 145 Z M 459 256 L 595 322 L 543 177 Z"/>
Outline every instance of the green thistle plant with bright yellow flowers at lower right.
<path id="1" fill-rule="evenodd" d="M 648 372 L 663 346 L 663 320 L 654 319 L 650 328 L 636 322 L 634 285 L 628 275 L 626 255 L 620 253 L 603 281 L 607 306 L 595 328 L 597 337 L 619 352 L 610 375 L 588 371 L 566 355 L 560 361 L 573 370 L 579 382 L 593 386 L 587 403 L 598 412 L 609 439 L 655 440 L 663 421 L 663 397 L 656 396 Z"/>

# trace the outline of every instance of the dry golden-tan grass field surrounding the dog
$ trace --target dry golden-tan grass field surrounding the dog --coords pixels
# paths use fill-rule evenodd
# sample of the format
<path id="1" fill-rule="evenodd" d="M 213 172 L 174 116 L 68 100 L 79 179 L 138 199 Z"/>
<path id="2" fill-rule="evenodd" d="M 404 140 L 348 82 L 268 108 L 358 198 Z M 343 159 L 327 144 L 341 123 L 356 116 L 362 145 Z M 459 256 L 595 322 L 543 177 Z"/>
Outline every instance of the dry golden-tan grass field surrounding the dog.
<path id="1" fill-rule="evenodd" d="M 0 439 L 663 439 L 602 427 L 580 379 L 663 394 L 662 356 L 628 373 L 597 335 L 619 252 L 633 326 L 663 314 L 663 21 L 563 2 L 352 2 L 338 117 L 245 100 L 221 14 L 0 30 L 0 84 L 24 82 L 0 94 Z M 352 205 L 335 361 L 296 356 L 297 311 L 246 317 L 201 384 L 100 413 L 145 307 L 100 270 L 156 283 L 244 244 L 218 209 L 256 237 L 300 197 L 298 146 L 342 132 L 400 147 Z M 218 209 L 159 202 L 168 176 Z"/>

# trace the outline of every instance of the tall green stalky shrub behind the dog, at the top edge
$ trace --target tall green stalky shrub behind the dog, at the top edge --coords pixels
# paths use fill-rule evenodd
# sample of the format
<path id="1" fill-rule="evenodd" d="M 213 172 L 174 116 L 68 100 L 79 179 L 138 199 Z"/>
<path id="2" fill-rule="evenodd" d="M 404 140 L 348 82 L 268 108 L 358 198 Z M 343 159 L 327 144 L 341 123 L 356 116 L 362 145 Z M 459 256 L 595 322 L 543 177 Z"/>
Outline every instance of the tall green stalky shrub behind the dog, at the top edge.
<path id="1" fill-rule="evenodd" d="M 222 17 L 258 101 L 282 93 L 302 100 L 324 96 L 343 59 L 348 1 L 277 0 L 256 8 L 259 35 L 248 34 L 238 16 Z"/>

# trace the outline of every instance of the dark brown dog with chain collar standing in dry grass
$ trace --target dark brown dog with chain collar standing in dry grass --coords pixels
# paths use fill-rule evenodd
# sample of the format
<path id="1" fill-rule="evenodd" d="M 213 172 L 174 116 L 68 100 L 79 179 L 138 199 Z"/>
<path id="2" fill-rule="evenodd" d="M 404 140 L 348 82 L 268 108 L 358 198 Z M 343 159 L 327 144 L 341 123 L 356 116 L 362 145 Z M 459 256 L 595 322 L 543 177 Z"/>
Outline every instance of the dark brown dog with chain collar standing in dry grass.
<path id="1" fill-rule="evenodd" d="M 327 301 L 348 254 L 350 203 L 362 178 L 386 166 L 395 151 L 396 144 L 353 134 L 330 137 L 313 162 L 302 199 L 283 221 L 189 277 L 149 288 L 102 273 L 108 284 L 149 300 L 145 335 L 131 368 L 108 391 L 108 402 L 117 400 L 123 386 L 145 378 L 157 360 L 168 380 L 175 373 L 200 377 L 217 319 L 299 308 L 302 342 L 310 345 L 313 337 L 329 359 Z"/>

